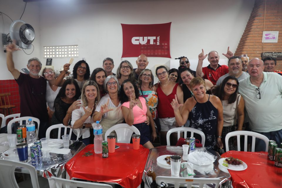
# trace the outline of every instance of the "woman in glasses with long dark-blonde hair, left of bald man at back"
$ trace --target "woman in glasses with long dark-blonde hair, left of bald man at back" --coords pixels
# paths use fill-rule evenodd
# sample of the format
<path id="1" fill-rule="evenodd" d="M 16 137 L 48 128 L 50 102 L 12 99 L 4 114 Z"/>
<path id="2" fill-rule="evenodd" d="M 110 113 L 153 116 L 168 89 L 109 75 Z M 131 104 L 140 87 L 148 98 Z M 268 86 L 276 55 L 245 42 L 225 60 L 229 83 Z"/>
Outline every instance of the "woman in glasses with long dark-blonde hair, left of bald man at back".
<path id="1" fill-rule="evenodd" d="M 133 67 L 129 61 L 125 60 L 120 63 L 117 68 L 117 80 L 119 85 L 121 85 L 124 80 L 131 80 L 135 83 Z"/>

